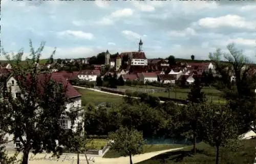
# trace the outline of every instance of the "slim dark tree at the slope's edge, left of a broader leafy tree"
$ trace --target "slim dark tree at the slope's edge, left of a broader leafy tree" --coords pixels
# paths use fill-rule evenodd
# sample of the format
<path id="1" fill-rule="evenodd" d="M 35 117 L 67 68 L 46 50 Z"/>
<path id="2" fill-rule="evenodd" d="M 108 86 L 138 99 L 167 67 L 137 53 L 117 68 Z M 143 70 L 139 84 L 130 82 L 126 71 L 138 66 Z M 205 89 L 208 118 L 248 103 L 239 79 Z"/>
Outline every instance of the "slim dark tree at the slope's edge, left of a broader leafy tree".
<path id="1" fill-rule="evenodd" d="M 201 105 L 190 103 L 188 106 L 184 107 L 182 114 L 182 125 L 185 127 L 183 128 L 183 135 L 193 142 L 193 151 L 196 153 L 197 139 L 202 139 L 202 127 L 200 122 L 202 107 Z"/>

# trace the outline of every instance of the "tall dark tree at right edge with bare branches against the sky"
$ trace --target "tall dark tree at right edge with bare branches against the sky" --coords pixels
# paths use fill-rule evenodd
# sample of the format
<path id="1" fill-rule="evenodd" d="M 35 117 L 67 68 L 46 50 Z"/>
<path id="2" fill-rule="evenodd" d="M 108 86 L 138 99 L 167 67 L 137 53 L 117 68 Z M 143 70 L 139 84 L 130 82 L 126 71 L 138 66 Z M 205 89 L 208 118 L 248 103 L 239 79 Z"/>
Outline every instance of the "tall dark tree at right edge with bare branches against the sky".
<path id="1" fill-rule="evenodd" d="M 244 56 L 243 51 L 236 48 L 234 43 L 228 44 L 229 53 L 222 52 L 219 48 L 216 52 L 209 53 L 209 58 L 216 66 L 216 72 L 221 75 L 221 83 L 226 100 L 229 102 L 231 109 L 236 112 L 238 123 L 240 123 L 239 131 L 243 133 L 247 131 L 251 122 L 255 122 L 253 115 L 255 106 L 255 74 L 250 73 L 250 62 Z M 221 62 L 221 58 L 227 60 L 227 63 Z M 235 87 L 232 87 L 230 77 L 236 76 Z M 255 130 L 256 131 L 256 130 Z"/>

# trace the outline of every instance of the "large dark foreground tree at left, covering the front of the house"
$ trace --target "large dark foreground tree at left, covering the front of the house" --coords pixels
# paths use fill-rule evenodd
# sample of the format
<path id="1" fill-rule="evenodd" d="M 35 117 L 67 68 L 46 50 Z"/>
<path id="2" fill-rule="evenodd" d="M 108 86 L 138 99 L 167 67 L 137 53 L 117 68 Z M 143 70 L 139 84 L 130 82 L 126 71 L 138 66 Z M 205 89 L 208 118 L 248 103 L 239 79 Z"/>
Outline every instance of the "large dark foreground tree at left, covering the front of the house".
<path id="1" fill-rule="evenodd" d="M 34 154 L 46 151 L 53 152 L 54 156 L 61 154 L 61 147 L 56 143 L 62 134 L 59 119 L 67 115 L 66 102 L 68 101 L 62 84 L 53 81 L 49 73 L 42 74 L 37 67 L 45 42 L 35 50 L 32 41 L 29 41 L 30 59 L 26 65 L 21 65 L 23 50 L 17 54 L 6 53 L 8 62 L 12 65 L 12 75 L 17 80 L 20 96 L 14 98 L 11 90 L 8 97 L 0 100 L 3 110 L 9 116 L 5 126 L 6 132 L 13 134 L 13 140 L 22 144 L 18 151 L 23 152 L 22 163 L 28 163 L 29 151 Z M 53 56 L 55 50 L 51 54 Z M 43 85 L 44 84 L 44 85 Z"/>

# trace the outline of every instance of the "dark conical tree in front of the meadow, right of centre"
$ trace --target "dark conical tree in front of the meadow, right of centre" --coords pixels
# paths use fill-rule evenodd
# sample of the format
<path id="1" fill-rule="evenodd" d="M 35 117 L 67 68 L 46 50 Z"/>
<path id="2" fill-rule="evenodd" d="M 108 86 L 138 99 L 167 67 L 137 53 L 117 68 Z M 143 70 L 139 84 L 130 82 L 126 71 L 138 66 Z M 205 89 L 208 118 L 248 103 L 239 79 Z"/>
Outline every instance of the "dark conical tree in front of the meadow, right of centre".
<path id="1" fill-rule="evenodd" d="M 205 94 L 201 91 L 202 87 L 198 77 L 195 77 L 193 86 L 187 95 L 187 100 L 191 103 L 200 103 L 205 101 Z"/>

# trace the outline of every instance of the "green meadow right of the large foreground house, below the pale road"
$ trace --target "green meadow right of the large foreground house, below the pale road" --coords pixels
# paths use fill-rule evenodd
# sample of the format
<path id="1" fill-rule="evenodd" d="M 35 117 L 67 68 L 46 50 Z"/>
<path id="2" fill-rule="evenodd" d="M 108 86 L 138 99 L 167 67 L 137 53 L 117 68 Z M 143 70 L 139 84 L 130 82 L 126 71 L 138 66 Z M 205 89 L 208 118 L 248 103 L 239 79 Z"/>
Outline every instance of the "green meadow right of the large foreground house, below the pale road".
<path id="1" fill-rule="evenodd" d="M 102 102 L 122 102 L 121 96 L 106 94 L 106 93 L 100 93 L 88 89 L 80 89 L 76 88 L 76 90 L 82 95 L 81 100 L 82 104 L 87 104 L 89 102 L 94 103 L 95 105 L 98 105 Z"/>

